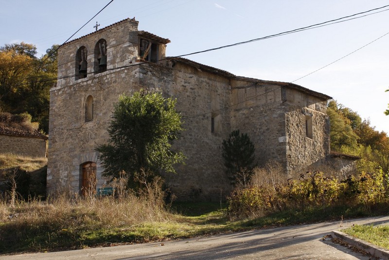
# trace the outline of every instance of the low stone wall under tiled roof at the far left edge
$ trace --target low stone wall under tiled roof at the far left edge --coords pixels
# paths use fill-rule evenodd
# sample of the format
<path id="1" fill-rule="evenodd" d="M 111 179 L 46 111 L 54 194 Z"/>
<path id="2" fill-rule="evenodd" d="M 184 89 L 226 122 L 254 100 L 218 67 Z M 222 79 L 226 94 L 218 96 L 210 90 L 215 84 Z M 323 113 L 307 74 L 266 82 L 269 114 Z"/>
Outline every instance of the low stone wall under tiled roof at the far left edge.
<path id="1" fill-rule="evenodd" d="M 0 152 L 31 157 L 46 157 L 46 139 L 0 134 Z"/>

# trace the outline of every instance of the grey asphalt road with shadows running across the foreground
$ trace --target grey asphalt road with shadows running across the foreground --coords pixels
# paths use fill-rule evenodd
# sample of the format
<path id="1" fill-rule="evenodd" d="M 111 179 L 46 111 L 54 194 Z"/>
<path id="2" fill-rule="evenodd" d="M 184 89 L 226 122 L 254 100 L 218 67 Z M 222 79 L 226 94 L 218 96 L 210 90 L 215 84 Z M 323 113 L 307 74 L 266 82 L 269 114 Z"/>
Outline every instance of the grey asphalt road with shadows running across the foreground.
<path id="1" fill-rule="evenodd" d="M 389 216 L 228 233 L 196 239 L 81 250 L 0 256 L 1 260 L 157 260 L 157 259 L 315 259 L 369 260 L 349 248 L 323 240 L 353 224 L 389 224 Z"/>

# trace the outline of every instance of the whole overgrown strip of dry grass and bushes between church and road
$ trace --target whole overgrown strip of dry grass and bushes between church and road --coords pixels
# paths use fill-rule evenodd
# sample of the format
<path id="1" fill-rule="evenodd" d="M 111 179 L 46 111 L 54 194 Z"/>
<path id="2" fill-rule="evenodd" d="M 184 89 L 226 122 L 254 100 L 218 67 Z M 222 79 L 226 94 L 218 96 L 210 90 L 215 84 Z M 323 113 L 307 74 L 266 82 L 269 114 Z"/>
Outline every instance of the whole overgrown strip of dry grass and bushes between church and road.
<path id="1" fill-rule="evenodd" d="M 62 192 L 46 201 L 0 200 L 0 253 L 166 241 L 253 228 L 332 221 L 389 212 L 382 174 L 337 181 L 308 173 L 284 181 L 280 167 L 254 169 L 250 186 L 219 203 L 166 204 L 161 179 L 137 192 L 125 180 L 115 194 Z"/>

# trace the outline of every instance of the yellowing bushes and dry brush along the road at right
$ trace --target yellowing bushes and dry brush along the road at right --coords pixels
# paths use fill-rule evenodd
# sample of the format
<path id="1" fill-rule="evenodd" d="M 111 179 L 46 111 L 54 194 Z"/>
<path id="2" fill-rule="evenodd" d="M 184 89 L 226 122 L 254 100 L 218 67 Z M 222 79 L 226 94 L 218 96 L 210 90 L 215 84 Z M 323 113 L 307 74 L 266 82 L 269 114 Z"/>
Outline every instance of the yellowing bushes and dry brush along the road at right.
<path id="1" fill-rule="evenodd" d="M 255 218 L 269 213 L 309 208 L 327 209 L 346 206 L 361 209 L 364 214 L 389 211 L 388 174 L 381 169 L 362 172 L 345 180 L 325 177 L 321 172 L 308 172 L 287 182 L 275 175 L 277 168 L 256 168 L 251 185 L 237 188 L 229 199 L 231 218 Z"/>

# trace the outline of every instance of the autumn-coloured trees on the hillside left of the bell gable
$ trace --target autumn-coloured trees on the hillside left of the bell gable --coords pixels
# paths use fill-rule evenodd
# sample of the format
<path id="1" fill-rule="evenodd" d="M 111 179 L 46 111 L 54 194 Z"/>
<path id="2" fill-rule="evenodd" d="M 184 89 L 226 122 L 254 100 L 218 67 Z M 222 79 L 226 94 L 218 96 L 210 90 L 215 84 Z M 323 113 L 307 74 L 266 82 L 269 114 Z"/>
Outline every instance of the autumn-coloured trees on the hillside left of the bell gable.
<path id="1" fill-rule="evenodd" d="M 0 112 L 27 112 L 39 130 L 49 129 L 49 91 L 57 76 L 58 45 L 37 57 L 34 44 L 12 43 L 0 47 Z M 49 57 L 50 56 L 50 57 Z"/>

